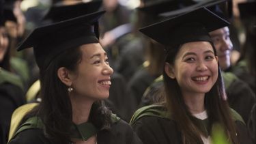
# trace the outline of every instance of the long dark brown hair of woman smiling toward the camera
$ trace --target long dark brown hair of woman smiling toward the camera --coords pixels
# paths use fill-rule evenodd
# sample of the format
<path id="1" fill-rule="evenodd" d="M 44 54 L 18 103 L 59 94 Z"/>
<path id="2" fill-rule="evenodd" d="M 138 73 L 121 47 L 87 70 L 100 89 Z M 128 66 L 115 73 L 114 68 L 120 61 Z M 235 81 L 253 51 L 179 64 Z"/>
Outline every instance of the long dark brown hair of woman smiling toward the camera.
<path id="1" fill-rule="evenodd" d="M 211 43 L 211 42 L 210 42 Z M 211 43 L 214 49 L 214 55 L 216 55 L 216 50 L 214 45 Z M 166 60 L 171 65 L 174 64 L 175 57 L 180 50 L 182 45 L 177 46 L 177 48 L 169 48 Z M 165 93 L 167 100 L 167 109 L 171 112 L 173 119 L 177 124 L 177 127 L 182 132 L 183 143 L 201 143 L 200 135 L 203 134 L 195 119 L 192 119 L 190 111 L 186 106 L 184 99 L 182 98 L 182 92 L 180 86 L 176 79 L 172 79 L 163 71 L 164 83 L 165 83 Z M 174 90 L 175 89 L 175 90 Z M 218 66 L 218 78 L 212 89 L 205 94 L 205 109 L 208 113 L 208 119 L 210 121 L 210 128 L 213 124 L 221 124 L 225 129 L 227 136 L 232 143 L 238 143 L 236 138 L 236 129 L 233 120 L 231 119 L 231 114 L 229 110 L 229 105 L 227 100 L 224 100 L 225 88 L 223 84 L 223 79 L 221 76 L 221 68 Z M 212 133 L 212 130 L 210 130 Z"/>

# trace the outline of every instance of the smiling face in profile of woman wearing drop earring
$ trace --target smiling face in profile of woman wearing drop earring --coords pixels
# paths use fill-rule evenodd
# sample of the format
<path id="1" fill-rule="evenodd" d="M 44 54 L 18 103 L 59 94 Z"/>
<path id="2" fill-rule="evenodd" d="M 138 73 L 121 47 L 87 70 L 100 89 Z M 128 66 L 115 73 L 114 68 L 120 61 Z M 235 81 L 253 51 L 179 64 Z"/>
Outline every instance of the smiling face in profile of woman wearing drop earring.
<path id="1" fill-rule="evenodd" d="M 111 74 L 108 57 L 99 43 L 81 46 L 83 53 L 75 74 L 72 74 L 72 87 L 78 96 L 94 100 L 109 97 Z"/>

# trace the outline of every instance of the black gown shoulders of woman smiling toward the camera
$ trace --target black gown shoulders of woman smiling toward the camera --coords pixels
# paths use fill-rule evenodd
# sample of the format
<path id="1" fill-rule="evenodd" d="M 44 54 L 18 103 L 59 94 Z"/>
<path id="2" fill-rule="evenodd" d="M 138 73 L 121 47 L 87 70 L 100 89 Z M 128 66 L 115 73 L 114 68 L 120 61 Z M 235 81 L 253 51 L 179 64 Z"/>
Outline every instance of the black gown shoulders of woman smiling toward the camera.
<path id="1" fill-rule="evenodd" d="M 139 119 L 132 121 L 132 128 L 143 143 L 182 144 L 182 134 L 173 119 L 161 117 L 156 114 L 156 111 L 150 111 L 150 113 L 152 114 L 145 114 Z M 136 113 L 134 115 L 136 115 Z M 252 143 L 251 139 L 248 137 L 246 126 L 242 121 L 236 120 L 236 127 L 238 128 L 238 141 L 240 141 L 241 144 Z"/>

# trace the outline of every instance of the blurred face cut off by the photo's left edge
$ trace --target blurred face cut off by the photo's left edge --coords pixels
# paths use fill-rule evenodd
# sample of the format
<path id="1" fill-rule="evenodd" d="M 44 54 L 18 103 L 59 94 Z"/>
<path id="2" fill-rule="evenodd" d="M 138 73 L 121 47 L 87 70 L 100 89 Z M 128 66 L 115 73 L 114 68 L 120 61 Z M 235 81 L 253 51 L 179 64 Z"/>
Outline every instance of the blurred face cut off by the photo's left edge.
<path id="1" fill-rule="evenodd" d="M 4 27 L 0 27 L 0 61 L 3 61 L 5 53 L 8 49 L 8 37 Z"/>

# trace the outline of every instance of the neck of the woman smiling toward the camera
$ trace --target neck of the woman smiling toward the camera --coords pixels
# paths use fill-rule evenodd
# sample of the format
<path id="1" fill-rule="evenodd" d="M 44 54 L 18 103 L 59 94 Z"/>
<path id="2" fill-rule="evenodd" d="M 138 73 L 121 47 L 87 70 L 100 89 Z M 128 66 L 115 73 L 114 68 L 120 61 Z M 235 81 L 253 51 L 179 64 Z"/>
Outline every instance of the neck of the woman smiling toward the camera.
<path id="1" fill-rule="evenodd" d="M 190 111 L 190 113 L 197 114 L 205 111 L 205 106 L 204 106 L 205 94 L 204 93 L 201 93 L 201 94 L 197 93 L 195 95 L 188 93 L 188 94 L 184 94 L 183 98 L 186 106 L 188 106 L 188 111 Z"/>

